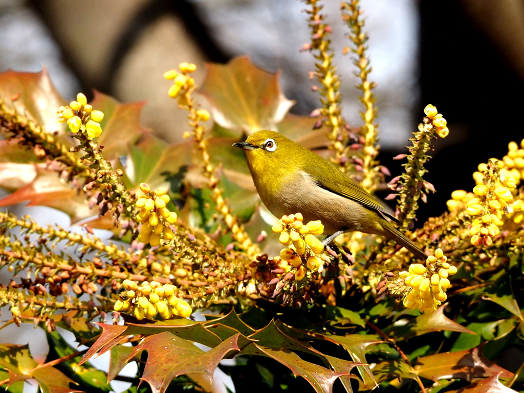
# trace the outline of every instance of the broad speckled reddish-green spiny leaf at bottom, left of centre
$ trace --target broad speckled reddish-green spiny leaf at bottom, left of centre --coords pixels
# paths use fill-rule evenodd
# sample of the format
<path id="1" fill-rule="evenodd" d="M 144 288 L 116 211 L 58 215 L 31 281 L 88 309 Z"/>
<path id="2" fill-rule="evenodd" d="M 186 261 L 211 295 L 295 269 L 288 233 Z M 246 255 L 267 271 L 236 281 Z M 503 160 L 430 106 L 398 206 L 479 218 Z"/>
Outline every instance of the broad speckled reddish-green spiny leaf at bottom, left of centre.
<path id="1" fill-rule="evenodd" d="M 231 351 L 239 351 L 235 335 L 208 352 L 203 352 L 190 341 L 163 332 L 149 336 L 138 344 L 132 356 L 140 351 L 148 353 L 141 379 L 147 381 L 153 393 L 166 391 L 171 380 L 184 374 L 204 374 L 210 380 L 220 361 Z"/>

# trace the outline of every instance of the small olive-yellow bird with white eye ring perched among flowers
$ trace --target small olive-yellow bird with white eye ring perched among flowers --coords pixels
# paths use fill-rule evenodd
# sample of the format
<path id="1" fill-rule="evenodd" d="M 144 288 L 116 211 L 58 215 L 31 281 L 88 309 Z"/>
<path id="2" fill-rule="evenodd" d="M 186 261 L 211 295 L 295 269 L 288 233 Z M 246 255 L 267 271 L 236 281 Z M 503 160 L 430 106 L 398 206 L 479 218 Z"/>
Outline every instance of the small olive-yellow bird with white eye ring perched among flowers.
<path id="1" fill-rule="evenodd" d="M 261 130 L 245 142 L 247 165 L 260 199 L 276 217 L 302 213 L 320 220 L 329 244 L 344 232 L 386 236 L 425 260 L 427 255 L 385 217 L 398 222 L 366 190 L 333 163 L 275 131 Z"/>

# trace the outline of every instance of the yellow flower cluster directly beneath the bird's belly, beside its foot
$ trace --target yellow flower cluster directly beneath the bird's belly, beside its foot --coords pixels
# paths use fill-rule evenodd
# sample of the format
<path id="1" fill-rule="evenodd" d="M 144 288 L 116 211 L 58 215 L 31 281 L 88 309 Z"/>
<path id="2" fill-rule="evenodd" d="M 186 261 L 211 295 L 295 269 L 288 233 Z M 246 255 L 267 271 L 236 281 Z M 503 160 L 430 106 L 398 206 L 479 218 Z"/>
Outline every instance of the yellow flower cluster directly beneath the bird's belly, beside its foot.
<path id="1" fill-rule="evenodd" d="M 324 232 L 324 225 L 320 221 L 310 221 L 307 224 L 302 221 L 301 213 L 284 215 L 272 227 L 273 232 L 280 233 L 280 243 L 287 247 L 280 251 L 280 258 L 297 269 L 296 281 L 303 280 L 306 268 L 320 273 L 324 269 L 324 263 L 329 261 L 322 255 L 324 244 L 315 237 Z"/>

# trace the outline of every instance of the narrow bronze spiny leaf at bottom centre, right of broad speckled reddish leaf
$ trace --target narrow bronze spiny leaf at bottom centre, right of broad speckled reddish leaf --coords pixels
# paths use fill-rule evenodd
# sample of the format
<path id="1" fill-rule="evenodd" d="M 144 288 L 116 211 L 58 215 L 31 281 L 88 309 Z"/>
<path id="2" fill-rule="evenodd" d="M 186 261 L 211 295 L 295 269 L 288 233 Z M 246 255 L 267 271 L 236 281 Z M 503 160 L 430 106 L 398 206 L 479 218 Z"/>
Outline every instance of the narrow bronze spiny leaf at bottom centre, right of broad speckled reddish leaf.
<path id="1" fill-rule="evenodd" d="M 282 348 L 272 348 L 263 345 L 251 344 L 258 350 L 275 359 L 277 362 L 288 367 L 294 376 L 305 378 L 318 393 L 329 393 L 333 389 L 334 381 L 344 375 L 350 375 L 346 372 L 336 372 L 314 363 L 302 360 L 297 354 L 284 350 Z"/>

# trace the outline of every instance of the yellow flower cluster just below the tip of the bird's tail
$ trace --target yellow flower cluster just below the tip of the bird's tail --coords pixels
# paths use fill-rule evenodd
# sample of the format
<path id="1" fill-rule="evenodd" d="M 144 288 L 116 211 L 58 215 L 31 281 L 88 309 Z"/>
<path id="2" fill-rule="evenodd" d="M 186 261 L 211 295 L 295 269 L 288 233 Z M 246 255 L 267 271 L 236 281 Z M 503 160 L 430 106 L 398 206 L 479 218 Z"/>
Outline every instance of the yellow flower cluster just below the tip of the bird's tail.
<path id="1" fill-rule="evenodd" d="M 450 286 L 449 276 L 457 272 L 455 266 L 447 263 L 442 249 L 437 248 L 435 255 L 426 259 L 425 266 L 412 264 L 408 271 L 401 271 L 399 276 L 412 289 L 404 298 L 405 307 L 420 312 L 433 312 L 447 299 L 446 290 Z"/>

